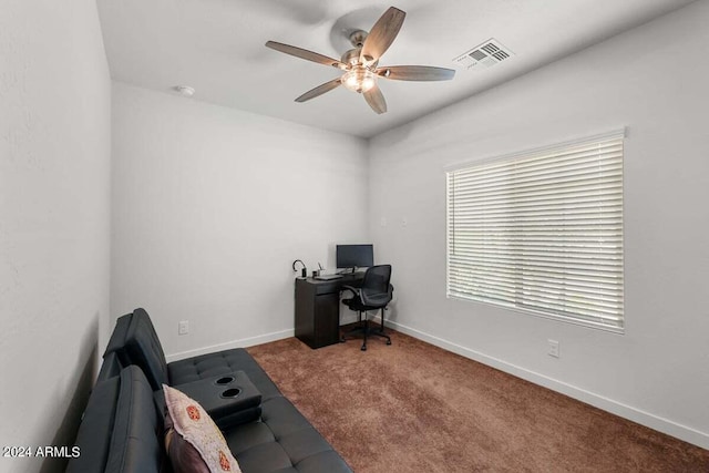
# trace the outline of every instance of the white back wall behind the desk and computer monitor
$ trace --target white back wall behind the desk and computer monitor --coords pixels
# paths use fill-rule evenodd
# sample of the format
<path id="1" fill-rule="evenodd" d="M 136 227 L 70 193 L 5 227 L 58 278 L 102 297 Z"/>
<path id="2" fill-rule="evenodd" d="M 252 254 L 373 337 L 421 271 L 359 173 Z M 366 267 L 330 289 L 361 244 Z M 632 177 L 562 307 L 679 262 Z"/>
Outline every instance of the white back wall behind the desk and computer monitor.
<path id="1" fill-rule="evenodd" d="M 111 313 L 171 359 L 292 336 L 291 263 L 366 239 L 367 169 L 359 138 L 115 83 Z"/>

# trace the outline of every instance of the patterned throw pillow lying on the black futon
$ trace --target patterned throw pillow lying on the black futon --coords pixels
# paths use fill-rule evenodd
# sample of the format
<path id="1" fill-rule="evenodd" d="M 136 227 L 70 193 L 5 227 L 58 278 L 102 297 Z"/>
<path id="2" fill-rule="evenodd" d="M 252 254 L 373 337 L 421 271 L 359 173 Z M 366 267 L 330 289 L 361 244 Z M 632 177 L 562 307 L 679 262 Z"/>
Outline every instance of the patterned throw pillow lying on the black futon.
<path id="1" fill-rule="evenodd" d="M 242 473 L 224 435 L 202 405 L 166 384 L 163 392 L 167 404 L 165 448 L 175 473 Z"/>

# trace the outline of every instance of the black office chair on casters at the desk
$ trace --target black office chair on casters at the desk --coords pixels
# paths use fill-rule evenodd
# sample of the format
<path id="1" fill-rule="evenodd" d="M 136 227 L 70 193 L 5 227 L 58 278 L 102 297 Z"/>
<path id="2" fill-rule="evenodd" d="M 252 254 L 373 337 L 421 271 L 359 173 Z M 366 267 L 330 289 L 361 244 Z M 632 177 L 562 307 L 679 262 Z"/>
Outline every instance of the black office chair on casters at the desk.
<path id="1" fill-rule="evenodd" d="M 351 299 L 342 299 L 342 304 L 349 307 L 350 310 L 357 310 L 360 325 L 345 333 L 341 341 L 345 341 L 348 337 L 361 333 L 364 339 L 361 348 L 362 351 L 367 350 L 367 337 L 372 335 L 386 338 L 387 345 L 391 345 L 391 338 L 384 333 L 384 310 L 391 301 L 394 290 L 394 287 L 389 284 L 390 280 L 391 265 L 379 265 L 367 269 L 361 287 L 342 286 L 342 289 L 353 294 Z M 381 327 L 379 329 L 369 326 L 367 313 L 364 313 L 364 322 L 362 323 L 362 312 L 379 309 L 381 309 Z"/>

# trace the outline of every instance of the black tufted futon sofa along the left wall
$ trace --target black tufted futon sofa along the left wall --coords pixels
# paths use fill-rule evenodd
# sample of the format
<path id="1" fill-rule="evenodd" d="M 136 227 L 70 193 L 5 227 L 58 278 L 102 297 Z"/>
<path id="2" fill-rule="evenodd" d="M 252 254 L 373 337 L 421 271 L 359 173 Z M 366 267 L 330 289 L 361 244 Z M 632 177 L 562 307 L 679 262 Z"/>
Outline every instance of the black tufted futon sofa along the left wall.
<path id="1" fill-rule="evenodd" d="M 116 322 L 76 438 L 81 455 L 71 460 L 66 471 L 172 472 L 163 442 L 162 383 L 176 389 L 196 387 L 186 392 L 209 404 L 207 398 L 213 394 L 205 388 L 238 371 L 258 391 L 260 404 L 234 410 L 227 404 L 216 417 L 209 413 L 244 473 L 351 472 L 246 350 L 167 363 L 143 309 Z"/>

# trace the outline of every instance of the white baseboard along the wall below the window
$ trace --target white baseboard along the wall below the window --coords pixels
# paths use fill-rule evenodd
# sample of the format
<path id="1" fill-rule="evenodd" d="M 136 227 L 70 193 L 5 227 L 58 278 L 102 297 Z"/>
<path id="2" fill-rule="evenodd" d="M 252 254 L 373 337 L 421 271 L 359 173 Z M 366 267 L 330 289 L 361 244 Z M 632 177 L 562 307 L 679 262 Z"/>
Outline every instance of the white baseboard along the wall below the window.
<path id="1" fill-rule="evenodd" d="M 475 360 L 483 364 L 496 368 L 517 378 L 522 378 L 526 381 L 543 385 L 544 388 L 548 388 L 553 391 L 561 392 L 562 394 L 566 394 L 569 398 L 576 399 L 595 408 L 619 415 L 624 419 L 628 419 L 633 422 L 637 422 L 641 425 L 684 440 L 685 442 L 701 446 L 702 449 L 709 449 L 709 433 L 695 430 L 687 425 L 681 425 L 668 419 L 664 419 L 649 412 L 645 412 L 630 405 L 614 401 L 613 399 L 608 399 L 603 395 L 574 387 L 572 384 L 567 384 L 565 382 L 548 378 L 544 374 L 530 371 L 525 368 L 507 363 L 506 361 L 489 357 L 479 351 L 471 350 L 470 348 L 462 347 L 460 345 L 422 332 L 414 328 L 407 327 L 395 321 L 387 320 L 386 325 L 402 333 L 409 335 L 413 338 L 418 338 L 444 350 L 452 351 L 453 353 L 458 353 L 462 357 L 470 358 L 471 360 Z"/>

